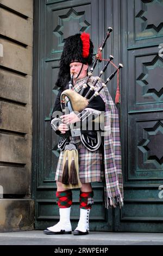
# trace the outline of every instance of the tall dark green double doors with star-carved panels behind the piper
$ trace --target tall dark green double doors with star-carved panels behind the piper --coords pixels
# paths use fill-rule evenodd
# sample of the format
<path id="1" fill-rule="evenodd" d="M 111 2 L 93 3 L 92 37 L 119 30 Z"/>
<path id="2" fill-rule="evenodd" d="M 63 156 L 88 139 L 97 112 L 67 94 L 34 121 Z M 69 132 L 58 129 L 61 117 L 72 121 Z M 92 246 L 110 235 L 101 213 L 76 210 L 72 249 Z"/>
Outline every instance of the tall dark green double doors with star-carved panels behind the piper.
<path id="1" fill-rule="evenodd" d="M 163 1 L 162 0 L 36 0 L 33 91 L 33 198 L 35 228 L 43 229 L 59 218 L 54 182 L 59 152 L 58 137 L 49 117 L 57 95 L 55 81 L 67 36 L 86 31 L 95 52 L 107 27 L 114 31 L 104 56 L 122 62 L 121 119 L 124 207 L 105 210 L 103 186 L 92 184 L 95 205 L 90 228 L 98 231 L 163 231 Z M 160 47 L 160 48 L 159 48 Z M 163 48 L 163 47 L 162 47 Z M 160 52 L 160 53 L 159 53 Z M 98 74 L 101 65 L 95 71 Z M 111 66 L 105 74 L 111 73 Z M 113 98 L 116 79 L 108 85 Z M 71 219 L 79 216 L 79 191 L 73 191 Z"/>

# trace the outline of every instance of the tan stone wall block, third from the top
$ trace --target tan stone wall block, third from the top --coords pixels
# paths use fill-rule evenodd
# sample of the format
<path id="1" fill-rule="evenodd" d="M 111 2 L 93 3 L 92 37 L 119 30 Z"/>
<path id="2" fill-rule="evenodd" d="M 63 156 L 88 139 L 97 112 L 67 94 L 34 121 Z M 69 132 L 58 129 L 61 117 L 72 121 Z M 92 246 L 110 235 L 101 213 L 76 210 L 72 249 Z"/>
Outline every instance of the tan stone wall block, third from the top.
<path id="1" fill-rule="evenodd" d="M 0 65 L 12 70 L 32 75 L 33 69 L 33 48 L 23 47 L 5 39 L 0 39 L 3 45 L 3 57 L 0 58 Z"/>

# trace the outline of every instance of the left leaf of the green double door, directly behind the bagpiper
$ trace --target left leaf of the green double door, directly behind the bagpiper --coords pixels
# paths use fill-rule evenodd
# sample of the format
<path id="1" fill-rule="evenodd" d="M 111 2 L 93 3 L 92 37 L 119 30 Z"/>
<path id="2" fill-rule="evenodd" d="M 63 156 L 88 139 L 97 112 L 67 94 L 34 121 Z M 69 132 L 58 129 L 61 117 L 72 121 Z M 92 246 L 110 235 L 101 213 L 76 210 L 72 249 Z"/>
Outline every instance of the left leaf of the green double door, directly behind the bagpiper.
<path id="1" fill-rule="evenodd" d="M 54 182 L 59 157 L 58 137 L 49 123 L 58 88 L 55 88 L 59 60 L 65 39 L 72 34 L 91 34 L 95 49 L 102 31 L 102 15 L 98 1 L 36 1 L 34 60 L 34 144 L 33 144 L 33 197 L 36 203 L 35 228 L 43 229 L 58 222 Z M 100 22 L 99 22 L 100 21 Z M 106 31 L 105 31 L 106 33 Z M 103 34 L 100 36 L 102 38 Z M 37 75 L 36 75 L 37 74 Z M 36 111 L 37 108 L 37 111 Z M 92 184 L 95 205 L 90 214 L 91 230 L 112 230 L 112 211 L 103 205 L 103 184 Z M 79 190 L 73 190 L 71 220 L 73 228 L 79 219 Z"/>

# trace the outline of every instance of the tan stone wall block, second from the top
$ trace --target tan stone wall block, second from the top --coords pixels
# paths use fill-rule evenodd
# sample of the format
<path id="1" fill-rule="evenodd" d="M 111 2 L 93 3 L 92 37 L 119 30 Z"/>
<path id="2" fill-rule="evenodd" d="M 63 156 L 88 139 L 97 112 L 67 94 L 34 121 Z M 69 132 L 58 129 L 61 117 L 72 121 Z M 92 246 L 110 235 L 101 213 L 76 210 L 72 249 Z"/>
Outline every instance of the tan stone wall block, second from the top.
<path id="1" fill-rule="evenodd" d="M 0 33 L 23 44 L 33 46 L 33 20 L 26 20 L 2 8 L 0 8 Z"/>

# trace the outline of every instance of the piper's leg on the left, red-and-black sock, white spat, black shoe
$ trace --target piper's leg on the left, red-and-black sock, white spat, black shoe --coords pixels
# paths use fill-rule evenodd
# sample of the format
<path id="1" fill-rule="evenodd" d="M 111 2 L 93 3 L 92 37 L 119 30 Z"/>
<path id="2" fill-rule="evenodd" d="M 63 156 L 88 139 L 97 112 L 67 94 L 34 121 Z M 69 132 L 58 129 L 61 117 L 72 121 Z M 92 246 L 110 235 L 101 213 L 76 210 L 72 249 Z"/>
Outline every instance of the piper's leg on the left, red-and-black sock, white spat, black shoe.
<path id="1" fill-rule="evenodd" d="M 45 229 L 43 233 L 47 235 L 71 234 L 70 211 L 72 205 L 72 191 L 65 190 L 65 188 L 62 187 L 62 183 L 57 181 L 56 197 L 59 207 L 60 221 L 54 226 Z"/>

